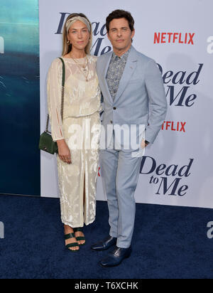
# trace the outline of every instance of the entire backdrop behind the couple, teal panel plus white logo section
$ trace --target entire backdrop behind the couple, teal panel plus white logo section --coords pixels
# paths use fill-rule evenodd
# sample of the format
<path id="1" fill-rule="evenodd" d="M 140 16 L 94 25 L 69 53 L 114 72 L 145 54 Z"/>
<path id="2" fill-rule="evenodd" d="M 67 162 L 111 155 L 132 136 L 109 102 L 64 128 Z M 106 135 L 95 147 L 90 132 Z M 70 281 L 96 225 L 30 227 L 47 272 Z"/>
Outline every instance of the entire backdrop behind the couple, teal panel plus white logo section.
<path id="1" fill-rule="evenodd" d="M 0 119 L 4 156 L 0 193 L 38 195 L 39 189 L 41 196 L 59 196 L 55 156 L 39 153 L 35 140 L 39 139 L 37 127 L 40 133 L 45 129 L 46 78 L 53 59 L 62 54 L 62 26 L 69 14 L 86 14 L 93 28 L 92 54 L 99 56 L 112 50 L 106 17 L 114 9 L 124 9 L 131 11 L 136 21 L 133 46 L 158 63 L 168 100 L 162 130 L 143 156 L 136 201 L 213 208 L 212 0 L 40 0 L 40 97 L 35 87 L 37 63 L 32 59 L 38 48 L 38 18 L 33 16 L 38 12 L 38 0 L 1 2 L 4 11 L 1 6 Z M 23 20 L 19 21 L 21 17 Z M 22 42 L 16 42 L 18 36 Z M 26 73 L 16 70 L 15 59 L 20 54 L 22 66 L 30 68 Z M 20 62 L 18 66 L 22 68 Z M 40 117 L 36 112 L 39 98 Z M 106 200 L 101 167 L 97 199 Z"/>

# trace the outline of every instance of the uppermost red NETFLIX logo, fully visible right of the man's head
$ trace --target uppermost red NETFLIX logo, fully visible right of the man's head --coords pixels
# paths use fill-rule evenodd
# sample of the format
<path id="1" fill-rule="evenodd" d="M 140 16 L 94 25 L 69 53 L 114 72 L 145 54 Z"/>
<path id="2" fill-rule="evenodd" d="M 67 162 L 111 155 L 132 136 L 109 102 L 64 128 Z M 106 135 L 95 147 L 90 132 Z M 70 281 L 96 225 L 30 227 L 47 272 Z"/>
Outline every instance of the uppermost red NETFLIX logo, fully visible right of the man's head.
<path id="1" fill-rule="evenodd" d="M 180 43 L 194 45 L 195 33 L 155 33 L 154 43 Z"/>

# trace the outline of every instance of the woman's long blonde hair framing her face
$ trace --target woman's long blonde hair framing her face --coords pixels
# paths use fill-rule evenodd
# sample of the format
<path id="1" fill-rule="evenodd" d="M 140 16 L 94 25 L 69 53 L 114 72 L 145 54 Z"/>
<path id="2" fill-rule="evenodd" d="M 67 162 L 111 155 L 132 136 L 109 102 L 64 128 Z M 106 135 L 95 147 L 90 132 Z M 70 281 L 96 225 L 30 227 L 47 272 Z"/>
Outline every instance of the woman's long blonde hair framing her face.
<path id="1" fill-rule="evenodd" d="M 90 38 L 89 38 L 89 43 L 87 44 L 87 47 L 85 48 L 85 53 L 87 55 L 90 54 L 90 50 L 92 47 L 92 24 L 90 23 L 89 19 L 87 18 L 87 16 L 85 16 L 84 14 L 70 14 L 70 16 L 67 17 L 66 21 L 65 21 L 65 25 L 63 28 L 63 33 L 62 33 L 62 38 L 63 38 L 63 48 L 62 48 L 62 56 L 67 55 L 68 53 L 70 53 L 72 51 L 72 44 L 68 44 L 67 41 L 67 22 L 70 21 L 72 18 L 80 16 L 82 18 L 86 18 L 87 21 L 89 22 L 89 26 L 90 26 Z"/>

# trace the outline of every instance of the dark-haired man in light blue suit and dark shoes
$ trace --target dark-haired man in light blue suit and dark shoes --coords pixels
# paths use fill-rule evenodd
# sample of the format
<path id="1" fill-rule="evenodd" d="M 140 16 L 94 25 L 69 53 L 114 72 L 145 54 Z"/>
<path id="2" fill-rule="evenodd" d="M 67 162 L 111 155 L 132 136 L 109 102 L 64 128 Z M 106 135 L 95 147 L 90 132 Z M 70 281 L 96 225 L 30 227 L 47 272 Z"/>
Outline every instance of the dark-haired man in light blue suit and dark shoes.
<path id="1" fill-rule="evenodd" d="M 134 193 L 140 173 L 141 150 L 153 143 L 160 131 L 167 111 L 165 89 L 160 70 L 151 58 L 138 53 L 132 46 L 135 35 L 134 20 L 129 12 L 116 10 L 107 17 L 107 36 L 114 52 L 97 60 L 97 74 L 104 98 L 103 139 L 100 163 L 104 189 L 109 207 L 109 237 L 92 245 L 92 250 L 115 249 L 100 262 L 112 267 L 131 255 L 136 202 Z M 136 131 L 131 139 L 116 135 L 119 125 Z M 140 125 L 145 125 L 144 132 Z M 120 133 L 119 133 L 120 134 Z M 140 146 L 132 146 L 132 138 L 140 139 Z M 131 144 L 129 148 L 125 146 Z M 101 144 L 101 145 L 102 145 Z M 118 146 L 119 145 L 119 146 Z"/>

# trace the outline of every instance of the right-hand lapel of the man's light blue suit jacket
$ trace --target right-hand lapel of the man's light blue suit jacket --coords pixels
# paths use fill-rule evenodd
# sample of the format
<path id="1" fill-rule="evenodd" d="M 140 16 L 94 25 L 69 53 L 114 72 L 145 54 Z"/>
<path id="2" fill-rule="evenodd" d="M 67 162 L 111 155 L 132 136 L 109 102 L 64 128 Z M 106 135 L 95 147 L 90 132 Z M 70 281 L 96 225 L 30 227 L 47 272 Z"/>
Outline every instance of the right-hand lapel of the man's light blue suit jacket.
<path id="1" fill-rule="evenodd" d="M 116 100 L 118 100 L 119 97 L 121 97 L 121 95 L 123 94 L 126 86 L 129 84 L 129 80 L 131 80 L 131 77 L 132 77 L 134 71 L 136 70 L 137 61 L 138 61 L 137 51 L 132 46 L 131 51 L 129 53 L 129 57 L 128 57 L 127 61 L 126 61 L 126 66 L 125 66 L 125 69 L 124 69 L 124 73 L 123 73 L 123 75 L 121 77 L 121 80 L 120 80 L 120 83 L 119 83 L 119 90 L 118 90 L 118 92 L 116 94 L 114 102 L 116 102 Z"/>

